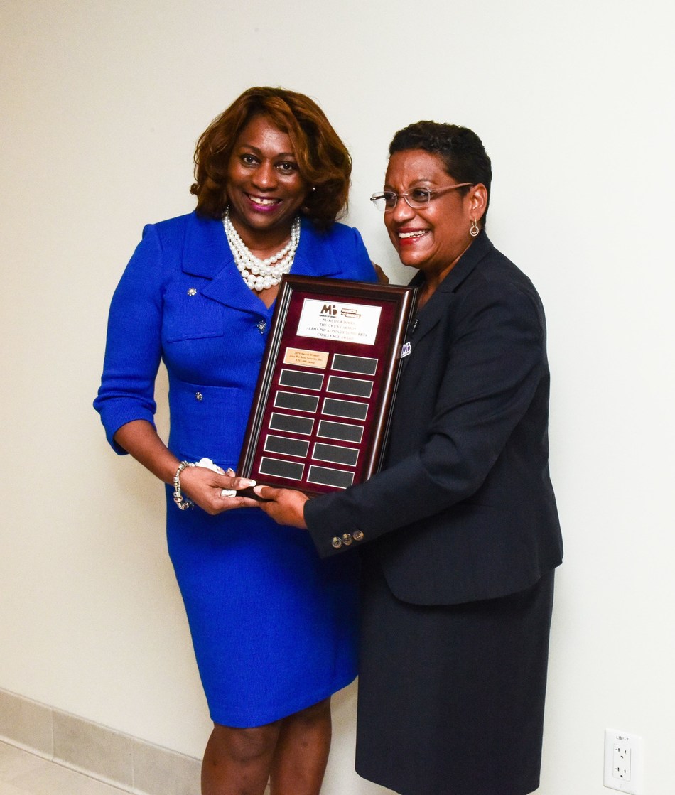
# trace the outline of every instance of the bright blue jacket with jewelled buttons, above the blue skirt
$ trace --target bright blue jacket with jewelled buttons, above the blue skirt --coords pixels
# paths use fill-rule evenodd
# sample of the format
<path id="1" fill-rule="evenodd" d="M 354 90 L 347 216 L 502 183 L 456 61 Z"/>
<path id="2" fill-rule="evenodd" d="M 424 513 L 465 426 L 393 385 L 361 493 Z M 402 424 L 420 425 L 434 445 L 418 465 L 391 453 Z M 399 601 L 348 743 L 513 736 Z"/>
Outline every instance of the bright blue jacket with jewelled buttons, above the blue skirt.
<path id="1" fill-rule="evenodd" d="M 375 280 L 358 231 L 305 220 L 292 273 Z M 244 284 L 220 221 L 192 212 L 145 227 L 114 293 L 94 402 L 115 451 L 125 452 L 113 439 L 122 425 L 153 423 L 163 360 L 169 448 L 236 467 L 272 314 Z"/>

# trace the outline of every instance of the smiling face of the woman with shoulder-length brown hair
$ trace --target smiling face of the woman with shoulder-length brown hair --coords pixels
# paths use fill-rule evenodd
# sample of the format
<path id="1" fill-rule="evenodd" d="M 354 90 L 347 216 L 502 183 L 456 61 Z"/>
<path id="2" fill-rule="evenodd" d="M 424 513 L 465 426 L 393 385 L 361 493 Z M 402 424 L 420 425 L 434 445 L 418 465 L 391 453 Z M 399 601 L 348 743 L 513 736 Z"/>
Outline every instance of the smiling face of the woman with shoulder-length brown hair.
<path id="1" fill-rule="evenodd" d="M 289 136 L 266 116 L 254 116 L 227 167 L 230 217 L 246 245 L 257 250 L 283 244 L 307 193 Z"/>

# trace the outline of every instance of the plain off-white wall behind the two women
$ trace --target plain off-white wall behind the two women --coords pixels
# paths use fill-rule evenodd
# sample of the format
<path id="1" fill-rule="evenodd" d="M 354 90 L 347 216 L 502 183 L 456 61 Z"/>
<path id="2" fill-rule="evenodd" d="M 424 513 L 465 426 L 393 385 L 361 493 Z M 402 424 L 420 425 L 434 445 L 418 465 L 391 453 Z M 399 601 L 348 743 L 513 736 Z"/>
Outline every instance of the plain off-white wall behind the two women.
<path id="1" fill-rule="evenodd" d="M 549 319 L 567 556 L 541 793 L 606 791 L 606 726 L 644 737 L 646 795 L 672 789 L 669 6 L 3 2 L 0 687 L 202 752 L 161 488 L 107 449 L 91 399 L 142 225 L 192 209 L 196 138 L 271 83 L 314 96 L 349 145 L 351 223 L 394 279 L 367 200 L 394 130 L 434 118 L 483 138 L 491 238 Z M 354 709 L 351 688 L 336 699 L 327 795 L 384 792 L 351 771 Z"/>

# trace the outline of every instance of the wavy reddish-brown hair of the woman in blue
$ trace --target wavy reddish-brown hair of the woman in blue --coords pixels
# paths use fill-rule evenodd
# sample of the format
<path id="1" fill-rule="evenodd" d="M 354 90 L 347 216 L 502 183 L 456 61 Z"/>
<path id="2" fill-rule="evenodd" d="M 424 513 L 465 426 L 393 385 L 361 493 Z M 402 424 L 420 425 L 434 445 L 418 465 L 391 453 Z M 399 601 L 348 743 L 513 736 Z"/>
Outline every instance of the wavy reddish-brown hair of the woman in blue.
<path id="1" fill-rule="evenodd" d="M 314 100 L 285 88 L 247 89 L 201 134 L 194 158 L 196 182 L 190 188 L 197 197 L 196 211 L 223 217 L 232 150 L 246 124 L 258 115 L 289 136 L 298 170 L 313 188 L 302 211 L 316 227 L 327 229 L 347 209 L 351 157 Z"/>

